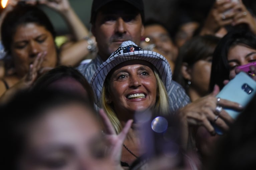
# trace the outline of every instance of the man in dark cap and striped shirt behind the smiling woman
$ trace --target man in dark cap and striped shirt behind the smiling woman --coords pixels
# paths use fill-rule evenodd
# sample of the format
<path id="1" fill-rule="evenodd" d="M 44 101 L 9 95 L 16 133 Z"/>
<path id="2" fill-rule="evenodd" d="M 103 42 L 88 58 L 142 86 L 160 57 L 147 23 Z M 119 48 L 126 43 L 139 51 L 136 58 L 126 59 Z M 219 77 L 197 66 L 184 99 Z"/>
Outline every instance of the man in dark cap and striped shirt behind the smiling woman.
<path id="1" fill-rule="evenodd" d="M 142 0 L 94 0 L 91 8 L 92 34 L 96 38 L 98 55 L 78 70 L 90 83 L 93 74 L 122 42 L 140 44 L 144 33 L 144 4 Z M 175 112 L 190 102 L 184 89 L 172 81 L 168 90 L 170 111 Z"/>

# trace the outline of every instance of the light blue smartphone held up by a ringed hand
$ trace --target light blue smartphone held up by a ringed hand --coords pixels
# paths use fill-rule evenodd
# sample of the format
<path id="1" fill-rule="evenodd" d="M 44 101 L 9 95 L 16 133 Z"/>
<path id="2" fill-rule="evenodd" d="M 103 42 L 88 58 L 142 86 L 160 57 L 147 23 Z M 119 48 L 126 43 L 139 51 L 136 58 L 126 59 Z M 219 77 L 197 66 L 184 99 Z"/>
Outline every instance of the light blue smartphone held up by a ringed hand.
<path id="1" fill-rule="evenodd" d="M 256 81 L 245 72 L 238 73 L 234 79 L 230 80 L 216 97 L 239 103 L 243 107 L 251 101 L 256 93 Z M 233 119 L 241 113 L 230 108 L 223 108 Z M 220 128 L 214 125 L 217 134 L 222 135 Z"/>

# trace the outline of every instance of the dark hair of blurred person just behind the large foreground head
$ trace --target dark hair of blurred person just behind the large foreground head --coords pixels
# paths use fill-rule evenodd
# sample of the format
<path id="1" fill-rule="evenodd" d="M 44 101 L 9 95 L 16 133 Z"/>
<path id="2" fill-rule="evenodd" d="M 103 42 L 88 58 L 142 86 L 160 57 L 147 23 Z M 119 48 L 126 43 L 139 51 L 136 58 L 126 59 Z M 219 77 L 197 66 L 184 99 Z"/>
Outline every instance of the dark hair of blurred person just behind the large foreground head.
<path id="1" fill-rule="evenodd" d="M 84 78 L 84 76 L 75 68 L 71 66 L 57 66 L 50 71 L 46 72 L 42 76 L 40 76 L 36 81 L 33 86 L 33 89 L 36 90 L 43 90 L 43 89 L 48 89 L 48 86 L 65 77 L 71 77 L 74 78 L 76 81 L 81 83 L 83 88 L 87 91 L 88 93 L 88 98 L 89 98 L 89 103 L 91 106 L 94 105 L 94 95 L 92 88 L 90 84 L 87 82 L 87 80 Z"/>

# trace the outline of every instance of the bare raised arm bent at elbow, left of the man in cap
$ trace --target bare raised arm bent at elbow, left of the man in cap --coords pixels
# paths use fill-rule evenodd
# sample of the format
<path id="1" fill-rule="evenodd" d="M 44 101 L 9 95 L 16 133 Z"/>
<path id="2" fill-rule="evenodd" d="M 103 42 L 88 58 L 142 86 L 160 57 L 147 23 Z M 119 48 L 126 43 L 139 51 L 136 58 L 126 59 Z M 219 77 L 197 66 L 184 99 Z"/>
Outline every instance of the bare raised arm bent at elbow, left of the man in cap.
<path id="1" fill-rule="evenodd" d="M 75 42 L 71 42 L 69 45 L 61 48 L 60 64 L 71 66 L 79 64 L 90 54 L 87 46 L 91 44 L 84 39 L 85 37 L 90 37 L 89 30 L 76 15 L 68 0 L 40 0 L 39 3 L 45 4 L 60 13 L 75 38 Z M 94 37 L 91 37 L 91 40 L 95 43 Z"/>

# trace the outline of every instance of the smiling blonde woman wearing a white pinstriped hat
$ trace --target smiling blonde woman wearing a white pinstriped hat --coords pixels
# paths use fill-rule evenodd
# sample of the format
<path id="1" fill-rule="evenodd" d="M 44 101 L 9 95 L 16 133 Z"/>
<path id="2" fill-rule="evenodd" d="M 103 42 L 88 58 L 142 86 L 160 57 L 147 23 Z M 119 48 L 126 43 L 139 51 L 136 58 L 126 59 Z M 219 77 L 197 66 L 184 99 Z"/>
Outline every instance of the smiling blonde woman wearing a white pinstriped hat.
<path id="1" fill-rule="evenodd" d="M 136 113 L 168 113 L 167 89 L 171 78 L 171 68 L 165 57 L 126 41 L 101 64 L 91 83 L 96 103 L 103 107 L 119 132 Z M 144 152 L 136 127 L 135 122 L 123 144 L 121 161 L 126 166 Z"/>

